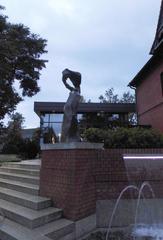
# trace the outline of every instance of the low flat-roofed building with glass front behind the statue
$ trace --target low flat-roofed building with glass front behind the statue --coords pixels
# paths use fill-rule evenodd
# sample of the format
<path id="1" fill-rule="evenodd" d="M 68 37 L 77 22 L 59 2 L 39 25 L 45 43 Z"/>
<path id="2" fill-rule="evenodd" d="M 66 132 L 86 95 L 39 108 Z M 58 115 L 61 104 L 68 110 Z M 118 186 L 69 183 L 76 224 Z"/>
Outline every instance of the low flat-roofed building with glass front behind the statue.
<path id="1" fill-rule="evenodd" d="M 40 118 L 44 143 L 55 143 L 60 140 L 64 105 L 64 102 L 34 103 L 34 111 Z M 103 127 L 116 121 L 128 125 L 129 113 L 135 113 L 134 103 L 80 103 L 77 118 L 82 130 L 88 127 L 101 127 L 101 122 Z M 86 116 L 90 119 L 86 119 Z"/>

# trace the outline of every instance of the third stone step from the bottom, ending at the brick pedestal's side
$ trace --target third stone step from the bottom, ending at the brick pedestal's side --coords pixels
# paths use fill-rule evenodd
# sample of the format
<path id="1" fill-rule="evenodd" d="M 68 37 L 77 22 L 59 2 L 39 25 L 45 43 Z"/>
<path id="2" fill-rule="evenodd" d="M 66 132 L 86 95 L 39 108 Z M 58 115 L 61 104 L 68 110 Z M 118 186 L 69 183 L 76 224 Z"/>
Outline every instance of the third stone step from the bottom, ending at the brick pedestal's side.
<path id="1" fill-rule="evenodd" d="M 51 199 L 49 198 L 21 193 L 2 187 L 0 187 L 0 198 L 35 210 L 40 210 L 52 205 Z"/>

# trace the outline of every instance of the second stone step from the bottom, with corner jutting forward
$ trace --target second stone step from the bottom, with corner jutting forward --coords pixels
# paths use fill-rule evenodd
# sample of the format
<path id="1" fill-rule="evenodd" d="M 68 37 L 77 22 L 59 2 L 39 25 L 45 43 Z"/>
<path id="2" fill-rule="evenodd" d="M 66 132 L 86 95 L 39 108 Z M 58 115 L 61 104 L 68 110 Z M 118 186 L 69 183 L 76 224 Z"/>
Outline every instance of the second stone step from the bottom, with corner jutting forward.
<path id="1" fill-rule="evenodd" d="M 48 207 L 43 210 L 32 210 L 0 199 L 0 208 L 4 216 L 27 228 L 33 229 L 61 218 L 62 210 Z"/>

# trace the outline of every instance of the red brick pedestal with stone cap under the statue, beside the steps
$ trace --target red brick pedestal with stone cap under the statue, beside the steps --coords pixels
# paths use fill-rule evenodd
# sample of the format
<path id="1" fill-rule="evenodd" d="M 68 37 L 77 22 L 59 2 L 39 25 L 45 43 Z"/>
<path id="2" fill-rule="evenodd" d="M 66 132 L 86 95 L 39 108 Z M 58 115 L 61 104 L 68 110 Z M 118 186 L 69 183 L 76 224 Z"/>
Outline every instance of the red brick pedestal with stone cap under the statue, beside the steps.
<path id="1" fill-rule="evenodd" d="M 64 216 L 78 220 L 95 213 L 95 162 L 101 144 L 44 145 L 40 195 L 51 197 Z"/>

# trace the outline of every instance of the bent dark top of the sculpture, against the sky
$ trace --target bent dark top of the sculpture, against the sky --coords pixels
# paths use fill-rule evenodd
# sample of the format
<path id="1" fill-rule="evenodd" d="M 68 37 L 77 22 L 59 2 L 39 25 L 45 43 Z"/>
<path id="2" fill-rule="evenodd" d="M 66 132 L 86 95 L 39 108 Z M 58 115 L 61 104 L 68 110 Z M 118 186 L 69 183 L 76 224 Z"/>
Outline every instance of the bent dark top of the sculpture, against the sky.
<path id="1" fill-rule="evenodd" d="M 75 88 L 80 88 L 81 84 L 81 74 L 79 72 L 74 72 L 66 68 L 63 72 L 63 78 L 69 78 Z"/>

